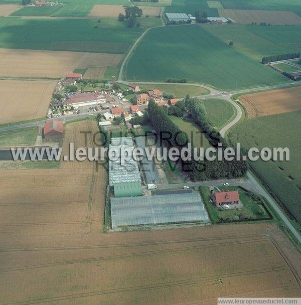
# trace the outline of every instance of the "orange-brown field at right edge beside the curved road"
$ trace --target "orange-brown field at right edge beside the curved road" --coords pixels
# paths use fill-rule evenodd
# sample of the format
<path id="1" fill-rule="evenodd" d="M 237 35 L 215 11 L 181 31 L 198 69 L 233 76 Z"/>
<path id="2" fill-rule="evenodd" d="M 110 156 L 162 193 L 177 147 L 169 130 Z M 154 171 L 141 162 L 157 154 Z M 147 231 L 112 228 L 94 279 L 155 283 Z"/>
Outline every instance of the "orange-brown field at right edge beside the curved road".
<path id="1" fill-rule="evenodd" d="M 249 117 L 301 110 L 301 86 L 242 95 Z"/>

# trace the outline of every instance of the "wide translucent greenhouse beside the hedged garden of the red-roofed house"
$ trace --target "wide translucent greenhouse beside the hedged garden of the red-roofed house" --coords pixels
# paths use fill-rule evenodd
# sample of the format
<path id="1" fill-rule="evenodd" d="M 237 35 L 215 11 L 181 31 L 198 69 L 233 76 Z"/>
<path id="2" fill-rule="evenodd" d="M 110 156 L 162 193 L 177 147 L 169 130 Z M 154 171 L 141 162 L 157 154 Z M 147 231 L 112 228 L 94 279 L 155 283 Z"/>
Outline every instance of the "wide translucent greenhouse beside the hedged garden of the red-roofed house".
<path id="1" fill-rule="evenodd" d="M 111 199 L 112 229 L 175 223 L 208 223 L 198 193 Z"/>

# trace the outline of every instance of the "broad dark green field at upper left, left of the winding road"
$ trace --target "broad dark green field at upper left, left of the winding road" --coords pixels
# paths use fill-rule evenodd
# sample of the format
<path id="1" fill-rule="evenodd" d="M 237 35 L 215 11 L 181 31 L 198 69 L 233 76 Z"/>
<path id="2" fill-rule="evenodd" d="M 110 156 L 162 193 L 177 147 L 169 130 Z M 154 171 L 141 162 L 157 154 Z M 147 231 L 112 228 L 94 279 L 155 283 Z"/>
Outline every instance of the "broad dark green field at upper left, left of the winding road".
<path id="1" fill-rule="evenodd" d="M 147 20 L 146 20 L 147 19 Z M 21 19 L 0 18 L 0 48 L 124 53 L 145 28 L 159 18 L 139 18 L 143 28 L 126 27 L 114 18 Z"/>

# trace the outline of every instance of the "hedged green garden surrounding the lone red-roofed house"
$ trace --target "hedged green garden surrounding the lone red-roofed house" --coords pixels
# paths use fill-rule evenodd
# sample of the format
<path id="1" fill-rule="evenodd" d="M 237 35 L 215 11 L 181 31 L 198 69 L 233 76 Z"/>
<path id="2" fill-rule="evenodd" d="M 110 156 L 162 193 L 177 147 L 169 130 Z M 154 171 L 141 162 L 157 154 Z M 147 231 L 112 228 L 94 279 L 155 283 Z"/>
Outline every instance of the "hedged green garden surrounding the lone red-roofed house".
<path id="1" fill-rule="evenodd" d="M 210 202 L 210 189 L 208 187 L 200 186 L 199 190 L 203 197 L 203 201 L 206 205 L 212 223 L 272 219 L 272 216 L 264 206 L 262 198 L 241 187 L 214 188 L 215 192 L 237 190 L 241 203 L 233 205 L 235 207 L 231 205 L 216 207 L 214 203 Z"/>

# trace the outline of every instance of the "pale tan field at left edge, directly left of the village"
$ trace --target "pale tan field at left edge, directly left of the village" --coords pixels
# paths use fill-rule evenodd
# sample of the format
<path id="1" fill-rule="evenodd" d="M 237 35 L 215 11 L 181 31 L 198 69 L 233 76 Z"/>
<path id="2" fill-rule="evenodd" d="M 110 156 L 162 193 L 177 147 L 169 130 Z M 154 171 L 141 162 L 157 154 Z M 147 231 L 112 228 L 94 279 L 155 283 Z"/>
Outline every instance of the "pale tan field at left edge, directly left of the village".
<path id="1" fill-rule="evenodd" d="M 44 117 L 55 86 L 53 81 L 0 80 L 0 124 Z"/>

